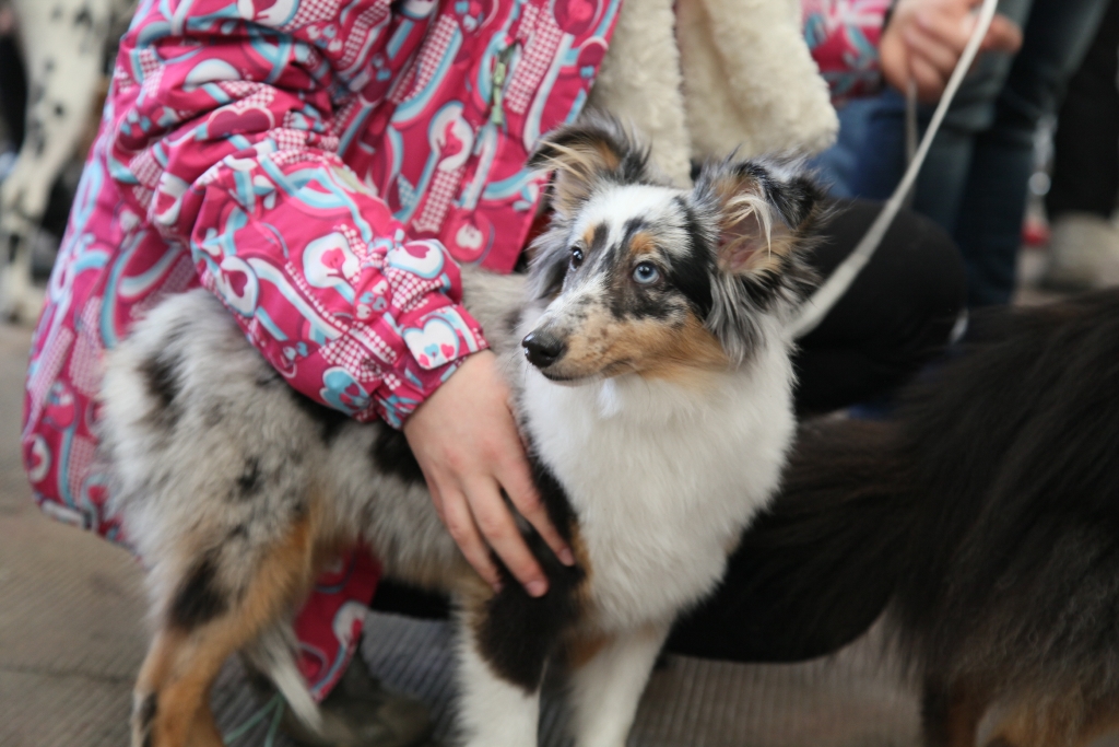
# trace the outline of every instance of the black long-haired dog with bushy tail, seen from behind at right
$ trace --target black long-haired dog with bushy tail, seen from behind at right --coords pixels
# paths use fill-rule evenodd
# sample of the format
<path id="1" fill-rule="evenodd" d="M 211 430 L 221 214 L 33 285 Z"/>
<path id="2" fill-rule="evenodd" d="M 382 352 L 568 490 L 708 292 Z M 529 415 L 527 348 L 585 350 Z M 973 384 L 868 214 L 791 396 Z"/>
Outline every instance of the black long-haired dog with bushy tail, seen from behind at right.
<path id="1" fill-rule="evenodd" d="M 885 608 L 929 747 L 988 711 L 986 745 L 1087 745 L 1119 726 L 1119 292 L 978 324 L 895 422 L 803 430 L 743 625 L 819 654 Z"/>

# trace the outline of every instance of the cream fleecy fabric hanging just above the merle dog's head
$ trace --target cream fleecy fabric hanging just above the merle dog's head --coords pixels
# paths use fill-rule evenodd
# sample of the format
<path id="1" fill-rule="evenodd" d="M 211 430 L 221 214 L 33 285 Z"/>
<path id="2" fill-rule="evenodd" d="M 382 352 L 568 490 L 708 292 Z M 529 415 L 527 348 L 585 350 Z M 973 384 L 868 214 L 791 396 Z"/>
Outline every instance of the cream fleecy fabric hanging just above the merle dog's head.
<path id="1" fill-rule="evenodd" d="M 680 185 L 692 159 L 819 152 L 839 123 L 800 25 L 799 0 L 623 0 L 590 103 Z"/>

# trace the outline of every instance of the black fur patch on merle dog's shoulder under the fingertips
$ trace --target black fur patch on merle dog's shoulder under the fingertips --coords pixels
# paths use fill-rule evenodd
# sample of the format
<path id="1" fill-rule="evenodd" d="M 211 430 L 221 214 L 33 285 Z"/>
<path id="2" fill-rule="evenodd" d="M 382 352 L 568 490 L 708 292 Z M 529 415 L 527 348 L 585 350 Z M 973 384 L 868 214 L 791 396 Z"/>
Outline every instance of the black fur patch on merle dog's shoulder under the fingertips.
<path id="1" fill-rule="evenodd" d="M 552 524 L 565 541 L 574 532 L 574 513 L 555 475 L 533 458 L 533 478 Z M 486 606 L 477 628 L 478 644 L 490 666 L 509 682 L 535 692 L 544 665 L 556 652 L 563 635 L 579 618 L 579 587 L 586 578 L 582 568 L 560 562 L 552 549 L 527 523 L 521 533 L 528 549 L 548 578 L 548 591 L 530 597 L 495 554 L 501 573 L 501 590 Z"/>

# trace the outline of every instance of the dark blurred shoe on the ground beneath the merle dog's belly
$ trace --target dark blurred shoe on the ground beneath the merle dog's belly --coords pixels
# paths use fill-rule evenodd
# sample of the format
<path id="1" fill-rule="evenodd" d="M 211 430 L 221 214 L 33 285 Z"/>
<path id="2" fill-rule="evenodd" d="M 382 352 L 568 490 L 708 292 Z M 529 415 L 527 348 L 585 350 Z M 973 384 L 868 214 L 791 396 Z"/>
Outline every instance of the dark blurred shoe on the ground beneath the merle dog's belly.
<path id="1" fill-rule="evenodd" d="M 386 689 L 359 655 L 320 703 L 322 731 L 316 734 L 284 709 L 281 727 L 305 747 L 420 747 L 431 740 L 427 707 Z"/>

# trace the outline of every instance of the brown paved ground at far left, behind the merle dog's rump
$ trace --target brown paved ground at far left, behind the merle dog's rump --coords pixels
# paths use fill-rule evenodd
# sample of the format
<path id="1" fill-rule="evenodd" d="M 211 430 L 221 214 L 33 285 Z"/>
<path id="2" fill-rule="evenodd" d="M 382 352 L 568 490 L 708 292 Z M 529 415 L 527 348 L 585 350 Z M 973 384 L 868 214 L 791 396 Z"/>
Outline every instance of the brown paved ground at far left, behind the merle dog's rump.
<path id="1" fill-rule="evenodd" d="M 20 466 L 30 334 L 0 326 L 0 745 L 123 745 L 142 652 L 128 553 L 35 507 Z"/>

